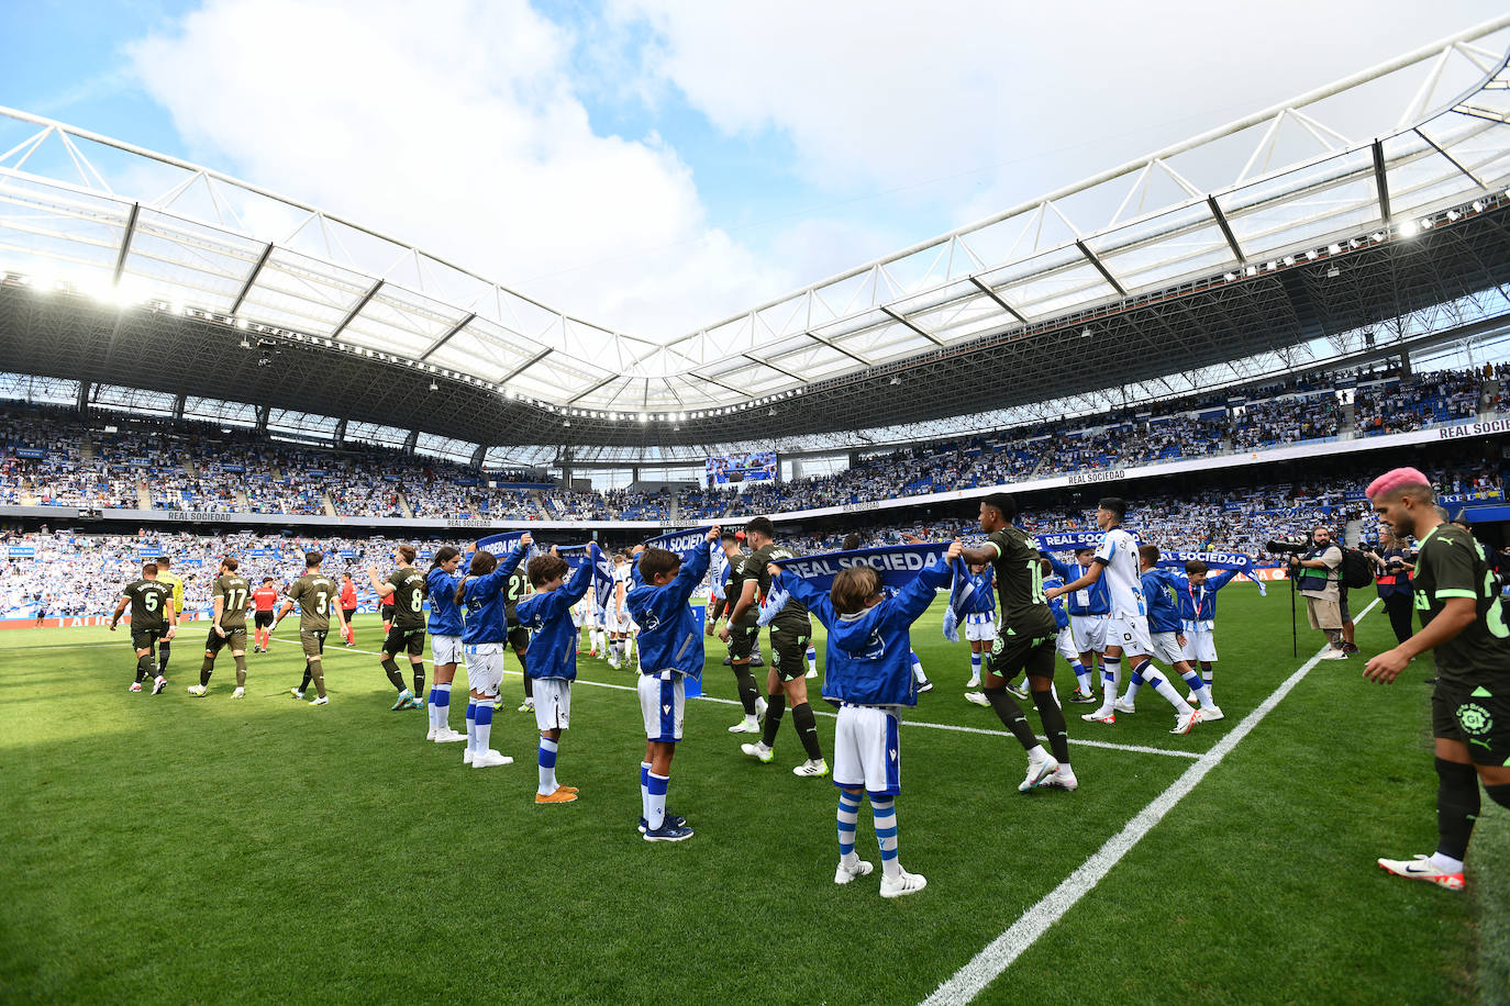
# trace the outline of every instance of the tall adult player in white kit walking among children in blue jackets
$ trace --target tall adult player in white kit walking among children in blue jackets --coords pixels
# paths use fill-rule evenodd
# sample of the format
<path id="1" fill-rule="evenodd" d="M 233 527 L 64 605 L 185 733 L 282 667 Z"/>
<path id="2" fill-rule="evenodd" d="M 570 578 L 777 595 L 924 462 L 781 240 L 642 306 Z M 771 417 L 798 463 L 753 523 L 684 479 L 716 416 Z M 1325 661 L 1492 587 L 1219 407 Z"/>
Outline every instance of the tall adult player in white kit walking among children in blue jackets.
<path id="1" fill-rule="evenodd" d="M 1049 599 L 1072 594 L 1090 587 L 1102 576 L 1111 596 L 1111 611 L 1107 617 L 1107 649 L 1102 655 L 1101 707 L 1087 712 L 1087 722 L 1116 722 L 1116 703 L 1122 692 L 1122 653 L 1151 653 L 1148 639 L 1148 606 L 1143 602 L 1143 579 L 1139 570 L 1137 541 L 1122 529 L 1126 517 L 1126 501 L 1107 496 L 1096 504 L 1096 526 L 1101 528 L 1101 544 L 1090 557 L 1090 569 L 1072 584 L 1045 591 Z"/>

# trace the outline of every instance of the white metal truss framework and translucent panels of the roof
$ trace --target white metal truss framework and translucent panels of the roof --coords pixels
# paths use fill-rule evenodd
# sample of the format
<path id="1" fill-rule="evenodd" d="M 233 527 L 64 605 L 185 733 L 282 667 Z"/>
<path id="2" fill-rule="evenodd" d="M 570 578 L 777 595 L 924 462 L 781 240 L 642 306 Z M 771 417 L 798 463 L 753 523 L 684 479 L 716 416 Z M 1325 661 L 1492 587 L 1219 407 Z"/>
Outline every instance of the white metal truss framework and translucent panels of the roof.
<path id="1" fill-rule="evenodd" d="M 574 318 L 314 207 L 5 109 L 0 273 L 420 362 L 559 415 L 696 421 L 1370 228 L 1404 237 L 1499 195 L 1507 29 L 1510 15 L 675 338 Z M 1395 106 L 1389 128 L 1341 125 Z"/>

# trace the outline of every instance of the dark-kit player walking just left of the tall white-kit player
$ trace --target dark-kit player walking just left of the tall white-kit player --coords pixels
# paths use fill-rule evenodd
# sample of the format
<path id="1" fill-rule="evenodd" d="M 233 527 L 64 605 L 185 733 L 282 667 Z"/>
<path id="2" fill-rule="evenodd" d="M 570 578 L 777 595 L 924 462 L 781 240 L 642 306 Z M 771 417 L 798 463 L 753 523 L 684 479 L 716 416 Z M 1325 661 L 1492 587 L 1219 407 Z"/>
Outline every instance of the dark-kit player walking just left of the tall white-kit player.
<path id="1" fill-rule="evenodd" d="M 1043 567 L 1028 534 L 1012 523 L 1018 504 L 1009 493 L 992 493 L 980 501 L 980 529 L 986 543 L 963 551 L 965 563 L 989 563 L 997 573 L 1001 600 L 1001 633 L 991 647 L 985 667 L 986 701 L 1028 754 L 1028 772 L 1019 793 L 1037 786 L 1075 789 L 1080 781 L 1069 766 L 1069 727 L 1065 710 L 1054 698 L 1054 638 L 1059 626 L 1043 596 Z M 1043 733 L 1054 756 L 1043 750 L 1022 715 L 1022 707 L 1007 694 L 1007 682 L 1027 671 L 1033 704 L 1043 721 Z"/>

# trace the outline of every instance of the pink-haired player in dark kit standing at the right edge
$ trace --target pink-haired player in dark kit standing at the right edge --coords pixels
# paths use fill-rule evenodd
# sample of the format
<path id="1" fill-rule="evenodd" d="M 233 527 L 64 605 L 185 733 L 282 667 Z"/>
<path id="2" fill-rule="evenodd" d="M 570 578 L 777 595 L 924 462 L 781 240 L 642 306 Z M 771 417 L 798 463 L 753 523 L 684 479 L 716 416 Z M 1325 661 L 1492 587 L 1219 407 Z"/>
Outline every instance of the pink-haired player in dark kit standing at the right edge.
<path id="1" fill-rule="evenodd" d="M 1397 538 L 1415 535 L 1421 543 L 1413 581 L 1421 630 L 1368 661 L 1364 677 L 1389 685 L 1427 650 L 1436 656 L 1438 677 L 1431 692 L 1436 852 L 1379 866 L 1459 891 L 1480 780 L 1489 799 L 1510 807 L 1510 626 L 1484 546 L 1442 522 L 1425 475 L 1397 468 L 1376 478 L 1367 495 Z"/>

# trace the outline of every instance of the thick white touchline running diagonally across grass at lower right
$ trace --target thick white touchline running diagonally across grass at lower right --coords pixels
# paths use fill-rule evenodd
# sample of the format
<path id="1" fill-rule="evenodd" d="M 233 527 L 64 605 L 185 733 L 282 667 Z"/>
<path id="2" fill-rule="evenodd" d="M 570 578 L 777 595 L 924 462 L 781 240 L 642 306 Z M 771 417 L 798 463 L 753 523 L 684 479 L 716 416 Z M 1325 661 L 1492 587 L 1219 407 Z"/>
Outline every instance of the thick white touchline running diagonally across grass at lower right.
<path id="1" fill-rule="evenodd" d="M 1354 624 L 1362 621 L 1374 605 L 1379 603 L 1376 597 L 1368 603 L 1367 608 L 1354 618 Z M 1330 646 L 1330 644 L 1329 644 Z M 1262 722 L 1264 716 L 1273 712 L 1274 706 L 1284 700 L 1285 695 L 1294 689 L 1296 685 L 1305 679 L 1321 661 L 1321 653 L 1326 647 L 1317 650 L 1317 655 L 1300 665 L 1294 674 L 1287 677 L 1284 683 L 1276 688 L 1268 698 L 1259 703 L 1258 709 L 1247 713 L 1232 733 L 1222 738 L 1216 747 L 1196 759 L 1196 763 L 1185 769 L 1179 778 L 1176 778 L 1169 789 L 1155 796 L 1143 810 L 1137 813 L 1132 820 L 1126 824 L 1117 834 L 1107 839 L 1089 860 L 1080 864 L 1080 867 L 1065 878 L 1059 887 L 1049 891 L 1043 900 L 1027 909 L 1021 919 L 1012 923 L 1006 932 L 986 944 L 986 949 L 977 953 L 969 964 L 956 971 L 947 982 L 933 989 L 933 994 L 923 1000 L 924 1006 L 954 1006 L 956 1003 L 968 1003 L 975 998 L 997 976 L 1012 967 L 1022 953 L 1031 947 L 1039 937 L 1048 932 L 1049 926 L 1065 917 L 1065 914 L 1075 906 L 1081 897 L 1089 894 L 1096 884 L 1111 872 L 1111 867 L 1122 861 L 1128 852 L 1132 851 L 1143 836 L 1154 830 L 1164 814 L 1173 810 L 1175 804 L 1185 798 L 1190 790 L 1196 787 L 1200 780 L 1206 777 L 1206 772 L 1222 765 L 1232 748 L 1238 745 L 1243 738 L 1253 731 L 1253 728 Z"/>

